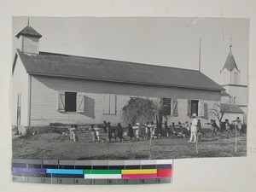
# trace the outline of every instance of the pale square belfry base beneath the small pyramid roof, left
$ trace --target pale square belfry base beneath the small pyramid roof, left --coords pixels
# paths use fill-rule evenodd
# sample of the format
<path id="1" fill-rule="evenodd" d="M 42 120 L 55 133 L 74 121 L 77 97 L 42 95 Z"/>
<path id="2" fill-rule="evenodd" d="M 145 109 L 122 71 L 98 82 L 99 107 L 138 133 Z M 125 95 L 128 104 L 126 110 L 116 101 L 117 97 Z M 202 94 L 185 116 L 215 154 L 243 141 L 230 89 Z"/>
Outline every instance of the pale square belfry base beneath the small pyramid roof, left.
<path id="1" fill-rule="evenodd" d="M 22 37 L 22 51 L 26 53 L 39 53 L 39 39 L 32 37 Z"/>

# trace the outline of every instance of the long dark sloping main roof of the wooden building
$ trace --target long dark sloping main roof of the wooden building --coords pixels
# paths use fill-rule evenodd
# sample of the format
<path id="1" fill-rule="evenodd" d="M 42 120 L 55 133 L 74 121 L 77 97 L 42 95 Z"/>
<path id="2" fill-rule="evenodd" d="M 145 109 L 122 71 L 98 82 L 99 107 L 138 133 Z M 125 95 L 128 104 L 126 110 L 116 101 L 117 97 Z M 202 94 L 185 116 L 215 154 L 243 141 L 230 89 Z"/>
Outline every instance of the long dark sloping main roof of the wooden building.
<path id="1" fill-rule="evenodd" d="M 199 71 L 112 61 L 74 55 L 40 52 L 39 55 L 20 52 L 27 73 L 77 79 L 96 79 L 132 84 L 153 84 L 203 90 L 224 88 Z"/>

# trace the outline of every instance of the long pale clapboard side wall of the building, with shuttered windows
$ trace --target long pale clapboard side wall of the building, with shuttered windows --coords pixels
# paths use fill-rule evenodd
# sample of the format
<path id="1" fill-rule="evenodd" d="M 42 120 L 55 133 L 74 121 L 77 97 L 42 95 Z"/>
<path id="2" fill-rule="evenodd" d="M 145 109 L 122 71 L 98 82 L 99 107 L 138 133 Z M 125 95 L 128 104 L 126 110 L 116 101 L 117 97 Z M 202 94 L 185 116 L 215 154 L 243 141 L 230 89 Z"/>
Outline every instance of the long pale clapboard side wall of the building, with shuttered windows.
<path id="1" fill-rule="evenodd" d="M 84 92 L 84 113 L 60 113 L 58 112 L 58 91 Z M 116 114 L 102 114 L 102 94 L 117 94 Z M 180 119 L 188 119 L 187 99 L 199 99 L 205 101 L 218 101 L 219 91 L 191 90 L 180 88 L 167 88 L 160 86 L 119 84 L 83 79 L 65 79 L 46 76 L 32 76 L 32 125 L 49 125 L 49 123 L 77 123 L 100 124 L 103 120 L 117 124 L 121 122 L 121 110 L 130 96 L 171 97 L 184 101 L 178 103 Z M 178 112 L 179 113 L 179 112 Z M 185 115 L 184 115 L 185 114 Z M 184 115 L 184 117 L 183 117 Z M 177 118 L 178 118 L 177 117 Z M 177 121 L 177 119 L 175 120 Z"/>

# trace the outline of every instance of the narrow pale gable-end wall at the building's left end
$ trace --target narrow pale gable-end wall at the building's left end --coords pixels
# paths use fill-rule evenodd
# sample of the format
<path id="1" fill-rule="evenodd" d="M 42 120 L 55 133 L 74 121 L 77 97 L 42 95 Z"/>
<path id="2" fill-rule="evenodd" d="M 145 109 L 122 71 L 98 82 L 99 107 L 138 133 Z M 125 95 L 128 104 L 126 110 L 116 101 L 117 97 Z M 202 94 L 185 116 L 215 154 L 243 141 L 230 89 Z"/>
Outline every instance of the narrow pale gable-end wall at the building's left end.
<path id="1" fill-rule="evenodd" d="M 12 125 L 16 125 L 17 122 L 17 99 L 19 93 L 21 93 L 20 125 L 27 126 L 28 74 L 18 56 L 12 78 Z"/>

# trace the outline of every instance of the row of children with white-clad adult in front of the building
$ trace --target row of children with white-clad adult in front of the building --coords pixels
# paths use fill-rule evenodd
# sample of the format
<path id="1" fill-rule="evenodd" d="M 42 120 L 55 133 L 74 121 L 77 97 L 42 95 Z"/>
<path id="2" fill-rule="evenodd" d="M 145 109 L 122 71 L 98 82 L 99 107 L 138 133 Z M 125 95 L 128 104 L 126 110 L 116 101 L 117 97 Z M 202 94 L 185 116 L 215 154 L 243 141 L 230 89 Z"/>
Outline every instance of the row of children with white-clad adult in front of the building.
<path id="1" fill-rule="evenodd" d="M 195 143 L 197 141 L 197 138 L 201 135 L 206 136 L 206 133 L 204 133 L 201 129 L 201 119 L 196 119 L 196 114 L 192 114 L 192 121 L 189 124 L 189 121 L 186 121 L 184 124 L 181 122 L 178 122 L 178 125 L 175 125 L 174 122 L 172 122 L 172 125 L 167 125 L 167 121 L 160 126 L 160 128 L 155 124 L 154 122 L 149 123 L 148 121 L 146 124 L 140 125 L 140 123 L 136 123 L 135 125 L 128 125 L 128 130 L 124 132 L 123 127 L 120 123 L 118 125 L 113 126 L 110 124 L 110 122 L 106 122 L 104 120 L 102 125 L 90 125 L 90 134 L 92 137 L 92 142 L 108 142 L 110 143 L 112 139 L 117 141 L 119 139 L 120 142 L 125 141 L 125 136 L 130 137 L 130 140 L 134 137 L 137 141 L 139 141 L 140 138 L 147 137 L 147 139 L 154 139 L 154 138 L 160 138 L 160 137 L 166 137 L 170 138 L 172 137 L 190 137 L 189 143 Z M 211 125 L 212 128 L 212 137 L 217 136 L 217 131 L 220 130 L 218 125 L 216 124 L 216 120 L 211 119 L 210 123 L 206 123 L 207 125 Z M 227 131 L 227 138 L 229 138 L 230 132 L 234 130 L 233 127 L 235 127 L 236 132 L 241 132 L 241 119 L 237 117 L 235 121 L 232 121 L 230 124 L 229 119 L 225 119 L 224 121 L 225 129 Z M 77 128 L 78 125 L 72 125 L 70 129 L 70 139 L 73 140 L 73 142 L 79 142 L 79 137 L 77 134 Z M 101 137 L 100 130 L 103 128 L 103 132 L 107 133 L 107 137 Z M 144 129 L 144 131 L 142 131 Z"/>

